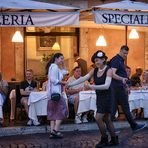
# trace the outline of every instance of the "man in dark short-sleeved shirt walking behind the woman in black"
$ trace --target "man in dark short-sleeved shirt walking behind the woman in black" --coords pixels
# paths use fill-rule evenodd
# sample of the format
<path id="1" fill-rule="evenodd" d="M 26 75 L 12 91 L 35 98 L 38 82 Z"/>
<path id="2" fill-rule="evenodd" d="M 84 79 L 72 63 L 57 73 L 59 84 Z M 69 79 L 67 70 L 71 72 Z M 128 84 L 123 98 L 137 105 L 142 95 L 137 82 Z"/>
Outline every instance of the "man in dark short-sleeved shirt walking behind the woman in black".
<path id="1" fill-rule="evenodd" d="M 132 128 L 133 131 L 138 131 L 145 127 L 145 124 L 138 125 L 130 112 L 128 103 L 128 92 L 126 90 L 126 82 L 128 80 L 127 73 L 125 70 L 124 60 L 127 58 L 129 48 L 123 45 L 120 48 L 119 54 L 114 56 L 110 61 L 110 66 L 113 71 L 112 81 L 112 93 L 113 93 L 113 104 L 112 104 L 112 117 L 115 116 L 118 103 L 121 105 L 122 110 Z"/>

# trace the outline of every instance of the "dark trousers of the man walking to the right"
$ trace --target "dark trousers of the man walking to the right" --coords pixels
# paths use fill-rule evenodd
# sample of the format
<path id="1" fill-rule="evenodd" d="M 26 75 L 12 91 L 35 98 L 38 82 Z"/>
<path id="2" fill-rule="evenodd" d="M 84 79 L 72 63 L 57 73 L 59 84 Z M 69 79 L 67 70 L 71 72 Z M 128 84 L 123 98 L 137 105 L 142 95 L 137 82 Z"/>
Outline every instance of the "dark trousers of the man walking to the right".
<path id="1" fill-rule="evenodd" d="M 113 102 L 112 102 L 111 117 L 112 118 L 115 117 L 117 106 L 118 104 L 120 104 L 131 128 L 134 128 L 137 125 L 137 123 L 133 119 L 132 114 L 130 112 L 129 103 L 128 103 L 128 92 L 126 91 L 126 88 L 124 86 L 113 87 L 112 96 L 113 96 L 112 99 Z"/>

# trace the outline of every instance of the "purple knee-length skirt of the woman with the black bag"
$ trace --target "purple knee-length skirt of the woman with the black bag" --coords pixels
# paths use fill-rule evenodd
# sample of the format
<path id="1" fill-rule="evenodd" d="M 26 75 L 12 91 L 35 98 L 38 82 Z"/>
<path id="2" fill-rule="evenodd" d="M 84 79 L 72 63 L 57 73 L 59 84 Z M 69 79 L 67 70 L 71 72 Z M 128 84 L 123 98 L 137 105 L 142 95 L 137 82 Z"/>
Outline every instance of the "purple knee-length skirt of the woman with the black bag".
<path id="1" fill-rule="evenodd" d="M 63 120 L 68 117 L 66 102 L 61 98 L 58 102 L 49 100 L 47 106 L 48 120 Z"/>

